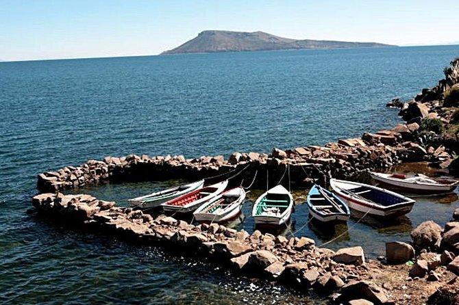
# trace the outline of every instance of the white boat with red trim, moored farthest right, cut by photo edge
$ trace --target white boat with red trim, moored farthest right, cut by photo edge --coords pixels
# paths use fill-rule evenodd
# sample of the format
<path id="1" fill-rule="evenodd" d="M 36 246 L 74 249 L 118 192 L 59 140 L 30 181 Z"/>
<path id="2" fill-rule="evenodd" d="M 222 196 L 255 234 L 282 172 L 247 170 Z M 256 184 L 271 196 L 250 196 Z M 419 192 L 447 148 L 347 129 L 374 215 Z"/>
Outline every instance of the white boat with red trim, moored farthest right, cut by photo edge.
<path id="1" fill-rule="evenodd" d="M 442 194 L 454 191 L 459 181 L 434 180 L 423 174 L 406 176 L 404 174 L 383 174 L 370 172 L 371 178 L 378 183 L 412 193 Z"/>

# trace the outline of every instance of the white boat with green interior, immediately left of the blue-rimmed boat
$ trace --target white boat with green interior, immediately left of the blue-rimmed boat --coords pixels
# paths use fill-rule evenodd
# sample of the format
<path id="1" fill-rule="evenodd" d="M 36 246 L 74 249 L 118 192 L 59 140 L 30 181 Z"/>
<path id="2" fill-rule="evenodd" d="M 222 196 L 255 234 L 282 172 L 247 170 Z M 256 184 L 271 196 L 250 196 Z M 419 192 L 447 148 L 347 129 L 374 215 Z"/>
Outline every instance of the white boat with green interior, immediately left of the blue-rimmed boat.
<path id="1" fill-rule="evenodd" d="M 293 197 L 282 185 L 276 185 L 258 197 L 252 209 L 255 224 L 279 226 L 290 218 Z"/>

